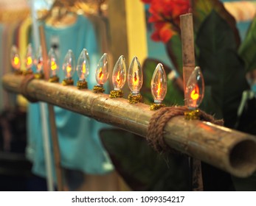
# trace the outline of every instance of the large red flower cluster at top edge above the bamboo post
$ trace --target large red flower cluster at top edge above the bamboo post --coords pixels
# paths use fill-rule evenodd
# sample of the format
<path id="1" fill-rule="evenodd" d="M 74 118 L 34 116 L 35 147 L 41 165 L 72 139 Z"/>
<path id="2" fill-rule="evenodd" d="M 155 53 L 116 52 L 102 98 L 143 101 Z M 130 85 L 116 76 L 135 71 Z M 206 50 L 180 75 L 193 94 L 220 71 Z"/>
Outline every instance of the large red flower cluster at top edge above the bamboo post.
<path id="1" fill-rule="evenodd" d="M 142 0 L 150 5 L 151 17 L 148 22 L 153 23 L 155 31 L 151 38 L 156 41 L 167 42 L 179 32 L 179 16 L 188 13 L 190 0 Z"/>

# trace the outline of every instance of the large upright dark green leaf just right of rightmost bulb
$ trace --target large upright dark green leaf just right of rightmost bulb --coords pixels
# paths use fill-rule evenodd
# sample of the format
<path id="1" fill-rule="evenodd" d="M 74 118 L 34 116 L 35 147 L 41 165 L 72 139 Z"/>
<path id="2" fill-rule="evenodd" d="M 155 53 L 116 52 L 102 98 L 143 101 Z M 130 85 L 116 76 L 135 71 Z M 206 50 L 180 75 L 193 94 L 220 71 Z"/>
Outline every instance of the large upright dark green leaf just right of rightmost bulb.
<path id="1" fill-rule="evenodd" d="M 208 113 L 218 113 L 226 127 L 234 127 L 241 95 L 248 88 L 243 60 L 236 51 L 235 35 L 224 18 L 212 10 L 198 30 L 196 44 L 205 85 L 211 88 L 210 95 L 204 99 L 207 104 L 201 107 Z"/>

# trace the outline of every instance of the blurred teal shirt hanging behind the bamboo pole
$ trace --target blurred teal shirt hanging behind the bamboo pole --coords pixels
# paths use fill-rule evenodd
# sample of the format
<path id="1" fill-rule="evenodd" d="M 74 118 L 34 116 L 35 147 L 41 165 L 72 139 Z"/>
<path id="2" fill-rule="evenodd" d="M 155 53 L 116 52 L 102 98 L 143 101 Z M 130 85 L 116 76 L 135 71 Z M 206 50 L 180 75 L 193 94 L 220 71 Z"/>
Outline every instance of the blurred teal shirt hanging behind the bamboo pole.
<path id="1" fill-rule="evenodd" d="M 60 81 L 65 77 L 62 71 L 63 59 L 69 49 L 75 54 L 76 62 L 80 51 L 86 48 L 89 52 L 91 71 L 89 74 L 89 89 L 96 85 L 94 71 L 100 59 L 96 35 L 91 22 L 82 15 L 77 22 L 63 29 L 45 26 L 46 44 L 56 49 L 60 62 Z M 73 79 L 78 80 L 75 72 Z M 62 86 L 62 85 L 60 85 Z M 48 114 L 47 114 L 48 115 Z M 64 168 L 83 171 L 87 174 L 105 174 L 113 170 L 108 154 L 105 152 L 99 138 L 99 131 L 109 127 L 86 116 L 55 107 L 56 126 L 60 144 L 61 165 Z M 39 104 L 30 104 L 28 109 L 28 141 L 27 157 L 33 162 L 32 171 L 45 177 L 43 138 Z M 52 156 L 53 157 L 53 156 Z"/>

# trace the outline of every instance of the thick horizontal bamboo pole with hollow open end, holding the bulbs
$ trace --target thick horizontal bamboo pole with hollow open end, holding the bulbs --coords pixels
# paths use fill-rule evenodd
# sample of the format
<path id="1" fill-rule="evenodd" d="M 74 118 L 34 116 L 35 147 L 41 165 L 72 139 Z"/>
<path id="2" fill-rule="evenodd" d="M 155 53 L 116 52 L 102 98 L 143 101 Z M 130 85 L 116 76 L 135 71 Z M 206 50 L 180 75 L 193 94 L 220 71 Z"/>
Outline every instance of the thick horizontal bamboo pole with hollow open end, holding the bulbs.
<path id="1" fill-rule="evenodd" d="M 24 78 L 6 74 L 3 86 L 10 92 L 21 93 Z M 38 79 L 27 84 L 27 93 L 32 99 L 58 105 L 142 137 L 147 135 L 149 121 L 155 112 L 149 110 L 147 104 L 129 104 L 127 99 L 110 99 L 108 94 Z M 256 137 L 253 135 L 176 116 L 168 121 L 164 138 L 170 147 L 237 177 L 248 177 L 256 170 Z"/>

